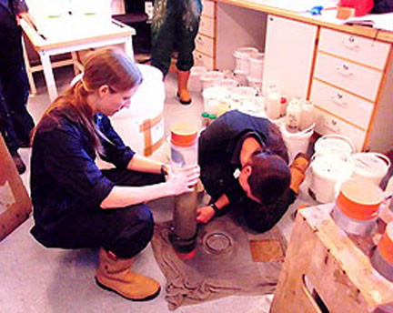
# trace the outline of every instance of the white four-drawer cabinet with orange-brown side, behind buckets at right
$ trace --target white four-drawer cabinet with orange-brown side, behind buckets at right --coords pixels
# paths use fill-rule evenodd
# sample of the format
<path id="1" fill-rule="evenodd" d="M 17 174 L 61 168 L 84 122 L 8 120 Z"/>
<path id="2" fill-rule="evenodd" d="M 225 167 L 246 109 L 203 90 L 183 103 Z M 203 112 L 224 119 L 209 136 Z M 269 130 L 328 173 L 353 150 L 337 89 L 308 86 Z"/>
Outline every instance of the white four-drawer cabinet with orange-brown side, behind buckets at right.
<path id="1" fill-rule="evenodd" d="M 348 136 L 359 151 L 392 147 L 390 49 L 388 43 L 321 27 L 310 91 L 317 133 Z"/>

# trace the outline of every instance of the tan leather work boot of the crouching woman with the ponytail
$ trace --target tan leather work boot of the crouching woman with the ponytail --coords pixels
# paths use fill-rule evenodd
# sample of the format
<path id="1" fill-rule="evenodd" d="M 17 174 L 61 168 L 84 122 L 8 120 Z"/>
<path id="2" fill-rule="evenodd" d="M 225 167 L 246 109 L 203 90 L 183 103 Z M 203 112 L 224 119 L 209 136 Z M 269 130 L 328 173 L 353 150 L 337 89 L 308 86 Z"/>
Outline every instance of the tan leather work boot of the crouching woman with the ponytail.
<path id="1" fill-rule="evenodd" d="M 96 270 L 97 285 L 134 301 L 156 298 L 161 289 L 158 282 L 133 272 L 132 264 L 133 258 L 116 257 L 101 247 L 99 266 Z"/>

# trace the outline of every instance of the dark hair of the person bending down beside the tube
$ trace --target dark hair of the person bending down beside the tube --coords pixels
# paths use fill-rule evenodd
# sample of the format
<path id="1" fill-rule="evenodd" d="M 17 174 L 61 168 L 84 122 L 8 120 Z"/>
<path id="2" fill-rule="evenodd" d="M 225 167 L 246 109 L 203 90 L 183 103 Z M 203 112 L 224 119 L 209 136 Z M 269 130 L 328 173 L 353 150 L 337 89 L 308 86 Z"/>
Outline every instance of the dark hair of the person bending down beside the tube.
<path id="1" fill-rule="evenodd" d="M 252 167 L 248 184 L 262 205 L 277 201 L 288 190 L 291 174 L 286 161 L 268 151 L 255 151 L 248 162 Z"/>

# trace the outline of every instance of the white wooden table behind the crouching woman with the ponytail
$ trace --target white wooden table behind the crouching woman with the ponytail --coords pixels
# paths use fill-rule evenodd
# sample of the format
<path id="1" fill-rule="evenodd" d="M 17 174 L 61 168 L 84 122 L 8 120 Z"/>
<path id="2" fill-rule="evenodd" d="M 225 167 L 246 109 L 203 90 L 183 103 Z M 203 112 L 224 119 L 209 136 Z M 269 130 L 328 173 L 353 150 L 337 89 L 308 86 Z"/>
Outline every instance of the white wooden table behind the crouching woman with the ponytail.
<path id="1" fill-rule="evenodd" d="M 97 48 L 106 45 L 124 45 L 126 54 L 134 57 L 132 35 L 136 34 L 134 28 L 115 20 L 106 23 L 84 24 L 80 20 L 53 20 L 39 24 L 38 28 L 21 21 L 23 31 L 35 48 L 41 59 L 41 66 L 30 66 L 25 54 L 25 64 L 32 91 L 35 93 L 35 84 L 32 73 L 44 71 L 46 87 L 51 101 L 57 96 L 53 67 L 73 64 L 75 68 L 82 69 L 76 58 L 76 51 Z M 72 59 L 51 63 L 50 56 L 71 53 Z"/>

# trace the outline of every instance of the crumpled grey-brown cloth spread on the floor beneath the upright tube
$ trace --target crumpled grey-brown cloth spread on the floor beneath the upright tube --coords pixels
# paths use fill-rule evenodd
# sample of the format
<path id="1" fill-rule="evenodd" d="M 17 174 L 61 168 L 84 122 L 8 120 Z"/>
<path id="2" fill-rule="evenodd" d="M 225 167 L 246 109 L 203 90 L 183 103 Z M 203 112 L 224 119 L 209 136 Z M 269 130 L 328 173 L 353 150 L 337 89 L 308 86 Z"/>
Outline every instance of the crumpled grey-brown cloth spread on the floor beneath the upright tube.
<path id="1" fill-rule="evenodd" d="M 264 234 L 247 231 L 230 215 L 200 226 L 196 254 L 185 261 L 169 241 L 171 222 L 156 225 L 152 246 L 166 276 L 166 301 L 170 309 L 231 295 L 274 293 L 287 243 L 278 227 Z M 224 236 L 228 247 L 216 253 L 207 245 Z M 230 247 L 229 247 L 230 246 Z M 253 248 L 253 252 L 251 251 Z"/>

